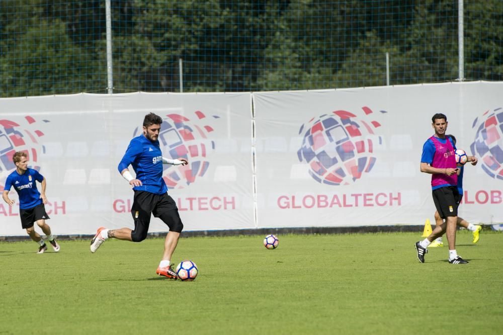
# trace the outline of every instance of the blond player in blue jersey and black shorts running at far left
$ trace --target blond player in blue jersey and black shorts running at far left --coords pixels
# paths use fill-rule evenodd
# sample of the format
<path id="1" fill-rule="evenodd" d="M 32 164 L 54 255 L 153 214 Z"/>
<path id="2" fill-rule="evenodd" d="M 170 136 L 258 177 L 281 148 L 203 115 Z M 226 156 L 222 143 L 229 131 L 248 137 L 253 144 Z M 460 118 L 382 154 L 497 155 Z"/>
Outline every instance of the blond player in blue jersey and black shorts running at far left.
<path id="1" fill-rule="evenodd" d="M 59 245 L 51 234 L 51 228 L 45 223 L 45 220 L 49 218 L 49 215 L 45 212 L 45 204 L 47 203 L 45 197 L 47 182 L 45 178 L 37 170 L 28 167 L 28 155 L 26 153 L 16 152 L 12 160 L 16 165 L 16 170 L 7 177 L 2 198 L 10 206 L 14 205 L 16 201 L 9 198 L 9 191 L 11 187 L 14 187 L 19 195 L 21 227 L 26 229 L 26 233 L 31 239 L 39 244 L 37 254 L 43 254 L 47 251 L 47 245 L 42 237 L 35 232 L 34 222 L 37 222 L 38 227 L 47 236 L 47 240 L 54 251 L 58 252 Z M 37 181 L 42 185 L 42 193 L 37 189 Z"/>

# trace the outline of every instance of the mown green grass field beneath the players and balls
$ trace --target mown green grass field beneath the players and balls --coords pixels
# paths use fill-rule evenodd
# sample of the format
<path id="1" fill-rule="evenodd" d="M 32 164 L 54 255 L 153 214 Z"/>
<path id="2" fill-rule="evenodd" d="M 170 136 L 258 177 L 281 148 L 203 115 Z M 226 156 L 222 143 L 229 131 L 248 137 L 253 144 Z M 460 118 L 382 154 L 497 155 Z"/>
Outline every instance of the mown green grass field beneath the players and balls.
<path id="1" fill-rule="evenodd" d="M 180 240 L 194 282 L 155 275 L 162 239 L 0 243 L 0 334 L 499 334 L 503 330 L 503 234 L 480 242 L 458 232 L 467 265 L 421 233 L 285 235 Z"/>

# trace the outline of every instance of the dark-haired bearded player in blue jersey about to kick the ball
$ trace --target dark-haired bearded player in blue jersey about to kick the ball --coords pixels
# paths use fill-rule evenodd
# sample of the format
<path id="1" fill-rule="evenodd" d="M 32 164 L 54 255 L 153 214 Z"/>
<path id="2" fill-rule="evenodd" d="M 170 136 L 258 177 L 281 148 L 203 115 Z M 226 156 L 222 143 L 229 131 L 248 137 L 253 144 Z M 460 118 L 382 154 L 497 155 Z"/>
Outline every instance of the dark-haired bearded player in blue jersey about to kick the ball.
<path id="1" fill-rule="evenodd" d="M 175 251 L 180 233 L 184 227 L 175 200 L 167 194 L 167 187 L 162 179 L 162 164 L 188 164 L 187 159 L 167 159 L 162 157 L 159 148 L 159 131 L 162 119 L 149 113 L 143 120 L 143 134 L 135 137 L 129 143 L 118 169 L 134 190 L 134 200 L 131 214 L 134 220 L 134 230 L 121 228 L 109 230 L 100 227 L 91 241 L 91 252 L 94 253 L 109 238 L 141 242 L 147 237 L 150 216 L 153 213 L 159 217 L 170 231 L 164 240 L 164 253 L 159 267 L 158 275 L 170 279 L 178 279 L 173 271 L 171 256 Z M 128 167 L 131 165 L 136 178 L 131 175 Z"/>

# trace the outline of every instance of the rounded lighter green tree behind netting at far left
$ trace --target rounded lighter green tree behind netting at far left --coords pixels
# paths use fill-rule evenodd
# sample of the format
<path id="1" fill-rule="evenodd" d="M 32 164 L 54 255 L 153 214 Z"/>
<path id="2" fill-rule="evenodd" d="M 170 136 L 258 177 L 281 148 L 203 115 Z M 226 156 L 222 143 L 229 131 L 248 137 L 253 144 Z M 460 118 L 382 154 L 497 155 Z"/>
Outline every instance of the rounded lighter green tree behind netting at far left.
<path id="1" fill-rule="evenodd" d="M 0 95 L 28 96 L 104 91 L 101 71 L 86 50 L 75 47 L 64 24 L 38 22 L 0 57 Z M 106 74 L 106 72 L 105 72 Z M 105 85 L 101 85 L 100 82 Z"/>

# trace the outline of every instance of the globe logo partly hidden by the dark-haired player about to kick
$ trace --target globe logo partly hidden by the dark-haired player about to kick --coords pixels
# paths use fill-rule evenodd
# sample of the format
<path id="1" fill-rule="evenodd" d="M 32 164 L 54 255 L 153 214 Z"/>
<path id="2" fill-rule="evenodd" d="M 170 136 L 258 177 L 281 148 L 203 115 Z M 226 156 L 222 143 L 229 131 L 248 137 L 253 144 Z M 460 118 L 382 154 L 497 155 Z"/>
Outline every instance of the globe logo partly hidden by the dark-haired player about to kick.
<path id="1" fill-rule="evenodd" d="M 162 120 L 159 133 L 162 156 L 171 159 L 186 158 L 188 165 L 163 165 L 164 182 L 167 188 L 184 188 L 202 177 L 208 170 L 210 162 L 208 153 L 215 149 L 215 142 L 208 138 L 213 128 L 208 124 L 202 111 L 195 111 L 197 122 L 192 122 L 179 114 L 168 114 Z M 212 116 L 219 119 L 218 116 Z M 135 136 L 139 128 L 135 130 Z"/>

